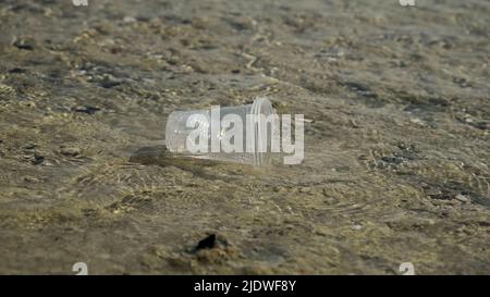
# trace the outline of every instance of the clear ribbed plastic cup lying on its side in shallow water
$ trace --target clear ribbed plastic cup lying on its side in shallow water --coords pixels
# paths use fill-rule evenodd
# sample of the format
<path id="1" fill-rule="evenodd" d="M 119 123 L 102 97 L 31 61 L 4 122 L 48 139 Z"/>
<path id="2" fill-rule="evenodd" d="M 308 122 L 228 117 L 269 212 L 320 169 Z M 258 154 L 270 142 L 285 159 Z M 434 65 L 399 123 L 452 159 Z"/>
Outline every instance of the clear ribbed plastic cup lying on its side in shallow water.
<path id="1" fill-rule="evenodd" d="M 195 129 L 195 127 L 187 126 L 187 120 L 191 115 L 200 114 L 204 115 L 206 121 L 199 122 L 199 126 L 206 127 L 208 129 L 208 151 L 207 152 L 193 152 L 189 148 L 187 148 L 187 137 L 191 132 Z M 211 141 L 222 139 L 223 135 L 228 129 L 221 126 L 221 121 L 228 114 L 236 114 L 242 119 L 243 123 L 243 148 L 242 152 L 224 152 L 220 149 L 219 152 L 211 152 Z M 247 126 L 247 114 L 255 115 L 265 115 L 266 117 L 275 114 L 275 110 L 272 108 L 271 102 L 267 98 L 257 98 L 254 100 L 252 104 L 246 106 L 237 106 L 237 107 L 220 107 L 220 123 L 217 123 L 217 119 L 211 116 L 211 109 L 206 110 L 193 110 L 193 111 L 174 111 L 172 112 L 168 120 L 166 126 L 166 146 L 167 148 L 174 153 L 200 158 L 200 159 L 210 159 L 217 161 L 229 161 L 229 162 L 237 162 L 244 164 L 252 165 L 264 165 L 270 163 L 270 147 L 271 147 L 271 133 L 267 133 L 267 136 L 264 137 L 258 133 L 254 133 L 254 152 L 247 152 L 247 136 L 246 136 L 246 126 Z M 203 117 L 203 119 L 204 119 Z M 260 117 L 258 117 L 260 119 Z M 264 119 L 264 117 L 262 117 Z M 211 125 L 220 125 L 219 131 L 211 129 Z M 258 121 L 258 125 L 266 125 L 261 121 Z M 264 144 L 264 141 L 266 141 Z M 258 148 L 266 148 L 265 150 L 259 150 Z M 249 150 L 248 150 L 249 151 Z"/>

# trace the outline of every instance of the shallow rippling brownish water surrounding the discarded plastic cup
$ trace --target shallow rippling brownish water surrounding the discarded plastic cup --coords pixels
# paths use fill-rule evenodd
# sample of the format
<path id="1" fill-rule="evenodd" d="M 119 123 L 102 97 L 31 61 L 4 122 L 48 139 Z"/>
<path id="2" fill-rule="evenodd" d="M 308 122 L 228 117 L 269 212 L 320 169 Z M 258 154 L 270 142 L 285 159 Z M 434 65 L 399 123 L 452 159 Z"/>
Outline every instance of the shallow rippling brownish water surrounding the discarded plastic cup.
<path id="1" fill-rule="evenodd" d="M 117 2 L 0 4 L 0 273 L 490 272 L 488 1 Z M 166 151 L 258 96 L 302 164 Z"/>

